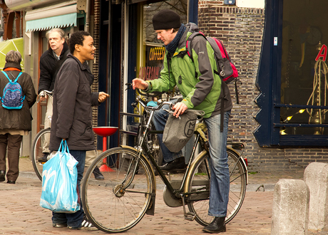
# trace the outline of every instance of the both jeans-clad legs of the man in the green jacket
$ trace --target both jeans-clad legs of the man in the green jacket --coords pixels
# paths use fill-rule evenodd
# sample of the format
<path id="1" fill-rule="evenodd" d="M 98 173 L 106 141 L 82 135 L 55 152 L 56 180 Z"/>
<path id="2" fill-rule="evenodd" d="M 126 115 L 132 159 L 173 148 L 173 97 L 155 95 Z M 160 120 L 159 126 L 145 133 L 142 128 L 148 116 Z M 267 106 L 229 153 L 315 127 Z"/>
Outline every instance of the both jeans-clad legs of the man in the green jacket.
<path id="1" fill-rule="evenodd" d="M 166 106 L 166 107 L 165 107 Z M 163 105 L 168 109 L 168 105 Z M 164 130 L 168 120 L 168 112 L 160 109 L 153 116 L 153 124 L 156 130 Z M 208 214 L 210 216 L 227 216 L 227 202 L 229 201 L 230 175 L 227 164 L 227 125 L 229 122 L 230 111 L 224 114 L 224 128 L 220 132 L 221 115 L 205 118 L 207 125 L 208 139 L 210 143 L 210 205 Z M 163 144 L 163 135 L 158 135 L 160 148 L 163 152 L 165 162 L 170 162 L 182 156 L 182 152 L 170 152 Z"/>

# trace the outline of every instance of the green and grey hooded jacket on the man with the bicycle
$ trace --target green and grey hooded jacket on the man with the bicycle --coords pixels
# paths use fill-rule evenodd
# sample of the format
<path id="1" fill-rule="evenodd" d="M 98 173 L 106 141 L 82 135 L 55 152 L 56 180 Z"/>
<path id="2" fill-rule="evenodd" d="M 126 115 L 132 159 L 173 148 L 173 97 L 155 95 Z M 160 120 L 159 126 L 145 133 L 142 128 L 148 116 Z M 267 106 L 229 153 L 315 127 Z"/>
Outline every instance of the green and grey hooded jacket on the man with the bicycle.
<path id="1" fill-rule="evenodd" d="M 227 84 L 221 83 L 219 75 L 214 73 L 217 66 L 210 43 L 203 36 L 196 36 L 191 45 L 191 60 L 185 48 L 186 41 L 194 31 L 198 31 L 198 26 L 195 23 L 188 23 L 185 27 L 185 33 L 175 53 L 172 55 L 166 51 L 160 78 L 147 81 L 147 92 L 173 90 L 177 85 L 183 95 L 182 102 L 188 109 L 203 110 L 205 118 L 220 114 L 222 98 L 224 111 L 231 110 L 229 89 L 224 89 L 224 95 L 221 93 L 221 85 Z"/>

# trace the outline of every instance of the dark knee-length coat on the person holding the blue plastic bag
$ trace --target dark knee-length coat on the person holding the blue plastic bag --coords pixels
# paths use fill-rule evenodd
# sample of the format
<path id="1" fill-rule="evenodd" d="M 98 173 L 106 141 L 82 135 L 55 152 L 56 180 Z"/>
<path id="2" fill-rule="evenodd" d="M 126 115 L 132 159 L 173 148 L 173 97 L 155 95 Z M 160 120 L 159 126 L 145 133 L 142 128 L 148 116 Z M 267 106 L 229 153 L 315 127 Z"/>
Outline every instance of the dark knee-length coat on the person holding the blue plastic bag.
<path id="1" fill-rule="evenodd" d="M 69 150 L 94 150 L 91 105 L 99 105 L 91 93 L 93 79 L 88 64 L 68 53 L 53 89 L 53 116 L 49 149 L 56 151 L 67 139 Z"/>

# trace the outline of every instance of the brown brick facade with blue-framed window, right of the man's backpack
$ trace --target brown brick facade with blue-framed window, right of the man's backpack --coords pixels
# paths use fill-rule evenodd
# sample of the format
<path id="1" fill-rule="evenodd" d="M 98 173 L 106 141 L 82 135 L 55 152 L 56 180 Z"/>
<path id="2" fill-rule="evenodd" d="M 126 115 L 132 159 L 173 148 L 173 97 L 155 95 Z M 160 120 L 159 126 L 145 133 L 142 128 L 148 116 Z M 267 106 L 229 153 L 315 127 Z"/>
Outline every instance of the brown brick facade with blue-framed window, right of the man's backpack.
<path id="1" fill-rule="evenodd" d="M 245 143 L 254 172 L 327 162 L 328 38 L 314 17 L 323 14 L 318 4 L 327 3 L 267 0 L 264 9 L 239 3 L 198 5 L 200 28 L 222 38 L 240 71 L 230 139 Z M 233 90 L 231 85 L 232 95 Z"/>

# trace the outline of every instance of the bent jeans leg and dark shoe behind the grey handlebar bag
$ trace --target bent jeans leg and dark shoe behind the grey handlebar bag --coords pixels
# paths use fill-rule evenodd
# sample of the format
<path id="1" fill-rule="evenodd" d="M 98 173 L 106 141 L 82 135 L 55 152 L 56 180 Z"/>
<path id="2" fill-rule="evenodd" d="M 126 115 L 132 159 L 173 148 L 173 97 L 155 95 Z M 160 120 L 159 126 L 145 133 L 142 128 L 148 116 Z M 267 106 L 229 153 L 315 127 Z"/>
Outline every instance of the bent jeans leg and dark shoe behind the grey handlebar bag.
<path id="1" fill-rule="evenodd" d="M 176 100 L 170 100 L 170 101 L 172 103 L 175 103 Z M 163 108 L 168 110 L 169 106 L 163 105 Z M 156 130 L 164 130 L 166 121 L 168 120 L 168 115 L 170 115 L 168 112 L 163 110 L 163 108 L 155 111 L 155 113 L 153 115 L 152 121 L 153 121 L 153 124 L 154 124 Z M 158 134 L 158 140 L 160 142 L 160 149 L 162 150 L 162 153 L 163 153 L 164 162 L 171 162 L 171 161 L 177 159 L 178 157 L 183 156 L 182 151 L 171 152 L 170 150 L 168 150 L 168 148 L 163 144 L 163 134 Z"/>

